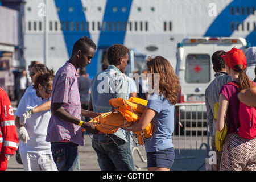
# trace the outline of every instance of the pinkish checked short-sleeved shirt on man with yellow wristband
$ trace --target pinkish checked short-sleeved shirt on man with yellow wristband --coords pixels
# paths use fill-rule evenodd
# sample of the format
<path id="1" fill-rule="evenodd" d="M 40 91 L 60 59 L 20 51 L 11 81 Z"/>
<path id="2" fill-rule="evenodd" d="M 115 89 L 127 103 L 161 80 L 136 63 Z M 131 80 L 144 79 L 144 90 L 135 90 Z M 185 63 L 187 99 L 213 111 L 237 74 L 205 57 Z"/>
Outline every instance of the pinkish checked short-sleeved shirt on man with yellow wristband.
<path id="1" fill-rule="evenodd" d="M 57 71 L 52 85 L 51 104 L 63 103 L 62 107 L 65 111 L 73 117 L 81 119 L 77 76 L 76 68 L 68 61 Z M 69 140 L 84 145 L 82 128 L 52 114 L 49 120 L 46 141 L 60 142 L 61 140 Z"/>

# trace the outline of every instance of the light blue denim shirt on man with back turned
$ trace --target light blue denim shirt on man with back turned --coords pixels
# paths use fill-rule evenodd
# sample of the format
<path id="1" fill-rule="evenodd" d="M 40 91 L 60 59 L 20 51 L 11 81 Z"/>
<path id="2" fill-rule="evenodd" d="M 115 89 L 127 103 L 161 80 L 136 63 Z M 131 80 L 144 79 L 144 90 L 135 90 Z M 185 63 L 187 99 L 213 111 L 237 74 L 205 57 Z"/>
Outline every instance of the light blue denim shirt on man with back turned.
<path id="1" fill-rule="evenodd" d="M 123 98 L 127 100 L 129 81 L 114 65 L 109 65 L 108 69 L 98 73 L 92 80 L 90 101 L 92 101 L 93 111 L 106 113 L 113 110 L 109 104 L 112 98 Z M 127 141 L 127 131 L 119 129 L 114 133 L 117 137 Z"/>

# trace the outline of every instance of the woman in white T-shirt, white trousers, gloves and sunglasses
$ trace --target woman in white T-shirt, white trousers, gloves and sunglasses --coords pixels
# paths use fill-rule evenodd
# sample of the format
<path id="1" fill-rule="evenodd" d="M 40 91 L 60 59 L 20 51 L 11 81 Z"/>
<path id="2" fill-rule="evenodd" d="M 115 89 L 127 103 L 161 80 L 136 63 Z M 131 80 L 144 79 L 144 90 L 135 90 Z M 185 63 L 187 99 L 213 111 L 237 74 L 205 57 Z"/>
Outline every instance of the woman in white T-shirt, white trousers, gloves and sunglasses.
<path id="1" fill-rule="evenodd" d="M 57 170 L 52 158 L 51 143 L 46 142 L 46 134 L 51 110 L 35 113 L 26 121 L 19 118 L 27 110 L 51 100 L 52 73 L 38 73 L 34 82 L 34 92 L 24 94 L 15 112 L 15 125 L 20 139 L 19 154 L 26 171 Z"/>

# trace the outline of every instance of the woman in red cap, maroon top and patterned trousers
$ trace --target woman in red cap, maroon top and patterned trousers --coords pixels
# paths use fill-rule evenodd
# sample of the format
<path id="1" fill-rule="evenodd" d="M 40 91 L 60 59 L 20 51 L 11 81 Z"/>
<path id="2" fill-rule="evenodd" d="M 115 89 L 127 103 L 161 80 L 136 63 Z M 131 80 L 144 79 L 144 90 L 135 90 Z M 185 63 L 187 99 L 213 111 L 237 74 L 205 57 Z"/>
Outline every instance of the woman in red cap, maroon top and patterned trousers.
<path id="1" fill-rule="evenodd" d="M 238 134 L 240 127 L 239 105 L 237 94 L 240 90 L 256 85 L 245 74 L 246 57 L 242 50 L 233 48 L 222 56 L 226 63 L 226 72 L 232 77 L 233 84 L 225 84 L 220 90 L 216 130 L 221 131 L 225 122 L 228 133 L 224 140 L 221 170 L 225 171 L 255 171 L 256 170 L 256 138 L 245 139 Z M 239 89 L 238 89 L 239 88 Z"/>

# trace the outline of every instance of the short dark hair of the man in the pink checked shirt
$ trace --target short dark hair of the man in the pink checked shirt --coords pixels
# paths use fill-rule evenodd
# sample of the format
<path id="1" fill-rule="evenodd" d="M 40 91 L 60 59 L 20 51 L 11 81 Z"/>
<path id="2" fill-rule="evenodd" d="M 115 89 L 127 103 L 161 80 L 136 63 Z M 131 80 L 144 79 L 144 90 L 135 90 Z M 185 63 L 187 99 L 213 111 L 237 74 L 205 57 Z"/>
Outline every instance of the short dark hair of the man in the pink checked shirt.
<path id="1" fill-rule="evenodd" d="M 89 48 L 93 48 L 94 50 L 96 50 L 97 47 L 95 43 L 92 41 L 92 39 L 88 38 L 87 36 L 83 36 L 82 38 L 77 40 L 73 45 L 72 55 L 79 50 L 81 50 L 82 53 L 86 53 L 89 50 Z"/>

